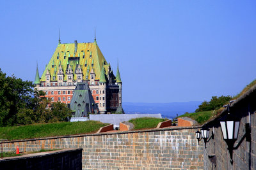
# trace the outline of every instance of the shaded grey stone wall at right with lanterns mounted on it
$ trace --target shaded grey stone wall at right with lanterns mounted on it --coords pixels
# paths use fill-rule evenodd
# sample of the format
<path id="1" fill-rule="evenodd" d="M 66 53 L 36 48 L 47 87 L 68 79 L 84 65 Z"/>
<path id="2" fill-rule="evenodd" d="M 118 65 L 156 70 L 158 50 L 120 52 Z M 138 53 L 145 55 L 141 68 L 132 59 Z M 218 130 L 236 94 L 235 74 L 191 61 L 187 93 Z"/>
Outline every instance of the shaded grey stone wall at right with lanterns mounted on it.
<path id="1" fill-rule="evenodd" d="M 255 104 L 256 92 L 250 93 L 250 95 L 244 97 L 230 106 L 230 114 L 232 117 L 237 117 L 241 120 L 239 127 L 239 137 L 234 144 L 237 146 L 236 150 L 233 150 L 233 160 L 230 162 L 230 153 L 227 149 L 227 143 L 223 140 L 223 135 L 220 127 L 220 119 L 209 122 L 206 124 L 210 129 L 211 137 L 214 131 L 214 139 L 209 139 L 207 148 L 204 152 L 205 169 L 256 169 L 256 104 Z M 223 113 L 227 113 L 224 111 Z M 250 116 L 249 116 L 250 113 Z M 223 115 L 220 116 L 220 118 Z M 245 124 L 250 123 L 252 133 L 251 139 L 246 141 L 244 136 Z M 203 141 L 200 141 L 203 143 Z M 215 157 L 214 157 L 215 155 Z M 213 159 L 209 159 L 212 157 Z M 211 161 L 213 160 L 213 162 Z"/>

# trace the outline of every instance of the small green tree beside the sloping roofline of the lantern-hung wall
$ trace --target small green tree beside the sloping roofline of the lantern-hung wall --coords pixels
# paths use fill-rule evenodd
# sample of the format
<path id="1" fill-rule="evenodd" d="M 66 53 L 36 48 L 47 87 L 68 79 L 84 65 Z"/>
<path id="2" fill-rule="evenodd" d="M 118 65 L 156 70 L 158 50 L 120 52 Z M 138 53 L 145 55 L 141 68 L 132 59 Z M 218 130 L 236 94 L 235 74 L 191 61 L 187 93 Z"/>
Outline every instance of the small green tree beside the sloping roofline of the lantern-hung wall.
<path id="1" fill-rule="evenodd" d="M 200 111 L 209 111 L 209 110 L 218 110 L 223 105 L 227 104 L 228 101 L 230 101 L 232 97 L 230 96 L 212 96 L 211 101 L 207 102 L 204 101 L 202 104 L 198 106 L 195 112 Z"/>

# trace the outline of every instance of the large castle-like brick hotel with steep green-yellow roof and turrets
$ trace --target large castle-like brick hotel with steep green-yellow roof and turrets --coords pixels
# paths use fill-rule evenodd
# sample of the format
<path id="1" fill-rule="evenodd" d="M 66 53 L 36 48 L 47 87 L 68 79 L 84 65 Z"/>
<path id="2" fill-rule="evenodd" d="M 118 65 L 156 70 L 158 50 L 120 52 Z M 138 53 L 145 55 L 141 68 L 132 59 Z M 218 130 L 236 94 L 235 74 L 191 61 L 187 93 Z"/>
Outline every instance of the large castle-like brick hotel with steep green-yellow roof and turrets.
<path id="1" fill-rule="evenodd" d="M 87 82 L 100 113 L 111 113 L 122 108 L 122 81 L 117 66 L 113 74 L 96 38 L 93 43 L 61 43 L 39 76 L 36 67 L 36 89 L 45 92 L 52 102 L 69 104 L 76 84 Z M 122 109 L 121 109 L 122 110 Z"/>

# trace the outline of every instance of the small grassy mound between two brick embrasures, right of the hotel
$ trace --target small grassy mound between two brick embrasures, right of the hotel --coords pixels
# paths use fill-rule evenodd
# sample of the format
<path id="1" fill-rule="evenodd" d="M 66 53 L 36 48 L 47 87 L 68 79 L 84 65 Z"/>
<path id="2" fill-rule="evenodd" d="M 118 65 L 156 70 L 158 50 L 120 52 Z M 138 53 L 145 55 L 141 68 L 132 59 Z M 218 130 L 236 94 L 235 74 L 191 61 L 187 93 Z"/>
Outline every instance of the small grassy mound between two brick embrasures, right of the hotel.
<path id="1" fill-rule="evenodd" d="M 164 122 L 168 120 L 167 118 L 151 118 L 151 117 L 143 117 L 143 118 L 132 118 L 129 120 L 130 123 L 134 124 L 134 129 L 152 129 L 156 128 L 159 122 Z"/>

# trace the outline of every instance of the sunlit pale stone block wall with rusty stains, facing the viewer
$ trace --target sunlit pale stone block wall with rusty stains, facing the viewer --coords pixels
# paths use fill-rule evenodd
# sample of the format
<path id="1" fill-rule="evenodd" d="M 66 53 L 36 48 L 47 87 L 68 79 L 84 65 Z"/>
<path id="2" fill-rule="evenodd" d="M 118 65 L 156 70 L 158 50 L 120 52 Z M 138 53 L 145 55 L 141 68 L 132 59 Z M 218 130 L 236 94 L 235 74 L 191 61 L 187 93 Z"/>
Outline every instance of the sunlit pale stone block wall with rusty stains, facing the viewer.
<path id="1" fill-rule="evenodd" d="M 170 127 L 3 143 L 4 152 L 83 148 L 83 169 L 204 169 L 198 127 Z"/>

